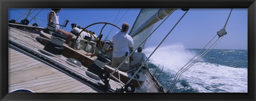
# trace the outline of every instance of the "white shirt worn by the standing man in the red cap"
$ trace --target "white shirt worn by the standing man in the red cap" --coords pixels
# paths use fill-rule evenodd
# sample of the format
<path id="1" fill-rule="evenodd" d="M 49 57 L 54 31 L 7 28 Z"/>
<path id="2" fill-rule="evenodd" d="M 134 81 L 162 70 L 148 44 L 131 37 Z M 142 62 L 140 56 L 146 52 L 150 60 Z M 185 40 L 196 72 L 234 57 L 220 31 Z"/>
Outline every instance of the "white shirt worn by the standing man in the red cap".
<path id="1" fill-rule="evenodd" d="M 118 31 L 113 36 L 113 57 L 122 57 L 129 51 L 129 47 L 133 47 L 133 39 L 126 32 Z"/>

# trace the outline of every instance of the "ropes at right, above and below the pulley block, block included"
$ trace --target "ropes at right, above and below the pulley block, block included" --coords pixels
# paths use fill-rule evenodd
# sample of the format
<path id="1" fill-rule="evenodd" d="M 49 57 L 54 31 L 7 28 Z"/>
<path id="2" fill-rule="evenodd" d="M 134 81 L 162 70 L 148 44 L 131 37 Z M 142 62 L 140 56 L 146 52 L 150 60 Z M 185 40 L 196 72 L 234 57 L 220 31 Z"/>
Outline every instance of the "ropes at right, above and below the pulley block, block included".
<path id="1" fill-rule="evenodd" d="M 202 48 L 202 49 L 188 62 L 188 63 L 190 63 L 190 64 L 189 64 L 186 68 L 185 68 L 185 66 L 186 66 L 188 63 L 187 63 L 185 66 L 183 66 L 183 67 L 175 74 L 175 77 L 174 77 L 174 79 L 173 79 L 172 85 L 171 85 L 170 89 L 169 89 L 167 92 L 170 92 L 170 91 L 172 92 L 173 89 L 174 89 L 174 86 L 176 85 L 177 81 L 179 80 L 181 74 L 182 74 L 183 72 L 187 71 L 189 68 L 191 68 L 191 66 L 193 66 L 196 62 L 198 62 L 205 54 L 207 54 L 209 51 L 211 51 L 211 49 L 212 49 L 215 45 L 217 45 L 217 44 L 219 43 L 219 41 L 223 38 L 223 36 L 227 34 L 227 31 L 225 30 L 225 28 L 226 28 L 226 26 L 227 26 L 227 23 L 228 23 L 228 20 L 229 20 L 229 18 L 230 18 L 230 15 L 231 15 L 232 10 L 233 10 L 233 9 L 231 9 L 231 11 L 230 11 L 230 13 L 229 13 L 229 16 L 228 16 L 228 19 L 227 19 L 227 21 L 226 21 L 226 23 L 225 23 L 225 26 L 224 26 L 220 31 L 217 32 L 217 35 L 219 36 L 219 38 L 213 43 L 213 45 L 211 45 L 209 48 L 207 48 L 194 62 L 190 63 L 207 45 L 209 45 L 209 43 L 212 41 L 212 40 L 210 40 L 209 43 L 206 44 L 206 45 L 204 46 L 204 48 Z M 215 36 L 213 37 L 213 39 L 214 39 L 217 35 L 215 35 Z"/>

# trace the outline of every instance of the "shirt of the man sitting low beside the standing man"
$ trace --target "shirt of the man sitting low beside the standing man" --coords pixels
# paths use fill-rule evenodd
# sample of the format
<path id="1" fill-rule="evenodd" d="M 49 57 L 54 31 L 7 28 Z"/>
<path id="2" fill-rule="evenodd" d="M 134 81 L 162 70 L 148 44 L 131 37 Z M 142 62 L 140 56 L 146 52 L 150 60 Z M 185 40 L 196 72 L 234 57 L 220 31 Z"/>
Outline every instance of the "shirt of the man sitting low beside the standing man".
<path id="1" fill-rule="evenodd" d="M 132 55 L 132 58 L 133 58 L 133 61 L 131 62 L 131 66 L 135 66 L 135 65 L 140 65 L 142 64 L 143 62 L 145 62 L 147 60 L 147 57 L 144 53 L 134 53 Z M 146 64 L 145 64 L 146 68 L 148 67 Z"/>

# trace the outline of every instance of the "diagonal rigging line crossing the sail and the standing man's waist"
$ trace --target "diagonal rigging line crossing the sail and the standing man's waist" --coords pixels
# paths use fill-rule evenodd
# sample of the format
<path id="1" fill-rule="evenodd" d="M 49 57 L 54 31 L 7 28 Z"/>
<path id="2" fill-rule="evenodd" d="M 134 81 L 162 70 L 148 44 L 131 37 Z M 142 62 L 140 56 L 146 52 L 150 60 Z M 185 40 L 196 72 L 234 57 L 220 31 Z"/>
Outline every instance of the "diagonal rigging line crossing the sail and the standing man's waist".
<path id="1" fill-rule="evenodd" d="M 164 19 L 164 21 L 165 21 L 167 18 L 169 18 L 170 15 L 171 15 L 171 14 L 169 14 L 169 15 Z M 164 22 L 164 21 L 163 21 L 163 22 Z M 159 24 L 159 26 L 158 26 L 157 28 L 159 28 L 159 27 L 163 24 L 163 22 L 162 22 L 161 24 Z M 156 29 L 157 29 L 157 28 L 156 28 Z M 151 32 L 149 36 L 151 36 L 151 35 L 156 31 L 156 29 L 155 29 L 153 32 Z M 144 43 L 144 42 L 149 38 L 149 36 L 148 36 L 146 39 L 144 39 L 144 40 L 140 43 L 140 45 L 142 45 L 142 43 Z M 140 45 L 139 45 L 139 46 L 140 46 Z M 119 64 L 119 65 L 117 66 L 117 68 L 110 74 L 110 76 L 113 75 L 113 74 L 115 73 L 115 71 L 117 71 L 117 70 L 121 67 L 121 65 L 123 65 L 124 62 L 125 62 L 125 61 L 135 52 L 135 50 L 137 50 L 138 48 L 139 48 L 139 47 L 135 48 L 134 51 L 132 51 L 132 53 L 129 54 L 129 55 L 125 58 L 125 60 L 124 60 L 121 64 Z"/>

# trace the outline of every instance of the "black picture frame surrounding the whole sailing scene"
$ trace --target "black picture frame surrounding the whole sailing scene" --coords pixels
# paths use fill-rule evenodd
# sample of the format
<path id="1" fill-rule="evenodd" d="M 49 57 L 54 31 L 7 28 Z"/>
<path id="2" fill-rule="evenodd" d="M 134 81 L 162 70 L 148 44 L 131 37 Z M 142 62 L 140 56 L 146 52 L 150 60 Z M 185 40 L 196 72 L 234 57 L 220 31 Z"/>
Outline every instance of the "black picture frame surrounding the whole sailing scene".
<path id="1" fill-rule="evenodd" d="M 255 100 L 255 0 L 1 0 L 1 100 Z M 247 8 L 248 92 L 247 93 L 8 93 L 9 8 Z"/>

